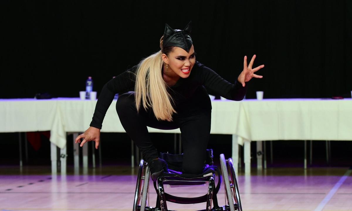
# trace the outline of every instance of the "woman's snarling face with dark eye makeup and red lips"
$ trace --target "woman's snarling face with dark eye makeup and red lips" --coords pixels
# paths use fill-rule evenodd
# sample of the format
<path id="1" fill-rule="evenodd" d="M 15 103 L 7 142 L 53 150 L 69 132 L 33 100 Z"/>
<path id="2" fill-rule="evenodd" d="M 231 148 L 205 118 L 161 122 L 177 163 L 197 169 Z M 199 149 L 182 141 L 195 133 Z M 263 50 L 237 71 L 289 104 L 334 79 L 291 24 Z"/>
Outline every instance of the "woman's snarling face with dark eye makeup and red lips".
<path id="1" fill-rule="evenodd" d="M 168 72 L 170 70 L 181 78 L 187 78 L 196 62 L 194 47 L 191 46 L 189 53 L 180 47 L 175 47 L 168 57 L 163 57 L 163 60 L 168 64 Z"/>

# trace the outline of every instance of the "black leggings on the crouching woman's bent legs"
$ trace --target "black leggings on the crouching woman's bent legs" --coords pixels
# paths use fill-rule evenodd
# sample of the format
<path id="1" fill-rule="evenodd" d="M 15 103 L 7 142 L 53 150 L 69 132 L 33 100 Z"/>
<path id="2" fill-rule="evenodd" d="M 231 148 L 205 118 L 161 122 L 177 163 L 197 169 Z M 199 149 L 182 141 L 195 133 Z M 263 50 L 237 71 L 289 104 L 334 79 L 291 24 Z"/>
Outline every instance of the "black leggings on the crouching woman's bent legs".
<path id="1" fill-rule="evenodd" d="M 147 126 L 172 130 L 180 128 L 182 148 L 183 148 L 183 173 L 199 174 L 202 172 L 204 160 L 206 159 L 206 149 L 210 134 L 211 104 L 206 95 L 207 106 L 195 107 L 190 102 L 186 109 L 177 110 L 177 114 L 172 116 L 173 121 L 158 121 L 154 113 L 145 111 L 143 107 L 137 113 L 134 101 L 134 93 L 125 93 L 119 96 L 116 103 L 116 111 L 119 115 L 122 126 L 134 143 L 143 153 L 147 162 L 158 158 L 158 153 L 150 140 Z M 194 102 L 196 102 L 195 100 Z M 199 100 L 197 104 L 199 104 Z"/>

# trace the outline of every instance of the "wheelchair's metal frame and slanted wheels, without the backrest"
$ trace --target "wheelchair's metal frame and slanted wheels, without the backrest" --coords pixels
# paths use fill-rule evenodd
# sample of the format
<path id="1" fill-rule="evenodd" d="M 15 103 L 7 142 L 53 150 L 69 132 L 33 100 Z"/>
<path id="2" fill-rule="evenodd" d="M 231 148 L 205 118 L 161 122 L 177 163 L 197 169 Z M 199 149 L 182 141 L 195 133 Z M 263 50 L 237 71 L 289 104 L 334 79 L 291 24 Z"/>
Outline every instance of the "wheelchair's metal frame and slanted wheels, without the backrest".
<path id="1" fill-rule="evenodd" d="M 156 206 L 146 206 L 147 198 L 149 198 L 149 179 L 150 171 L 147 163 L 142 159 L 139 163 L 137 174 L 136 191 L 134 195 L 133 211 L 171 211 L 168 210 L 166 201 L 178 204 L 195 204 L 206 202 L 206 209 L 200 211 L 242 211 L 238 184 L 233 166 L 232 159 L 225 159 L 224 154 L 220 154 L 221 175 L 218 175 L 218 185 L 215 187 L 215 173 L 199 179 L 168 179 L 167 177 L 160 176 L 156 182 L 153 182 L 154 188 L 157 192 Z M 218 174 L 220 172 L 218 171 Z M 219 206 L 216 194 L 220 189 L 221 180 L 223 177 L 225 185 L 225 202 L 226 205 Z M 177 197 L 165 193 L 164 184 L 168 182 L 179 182 L 183 185 L 187 184 L 205 184 L 208 183 L 208 193 L 193 198 Z M 149 201 L 149 200 L 148 200 Z M 213 202 L 213 208 L 212 208 Z"/>

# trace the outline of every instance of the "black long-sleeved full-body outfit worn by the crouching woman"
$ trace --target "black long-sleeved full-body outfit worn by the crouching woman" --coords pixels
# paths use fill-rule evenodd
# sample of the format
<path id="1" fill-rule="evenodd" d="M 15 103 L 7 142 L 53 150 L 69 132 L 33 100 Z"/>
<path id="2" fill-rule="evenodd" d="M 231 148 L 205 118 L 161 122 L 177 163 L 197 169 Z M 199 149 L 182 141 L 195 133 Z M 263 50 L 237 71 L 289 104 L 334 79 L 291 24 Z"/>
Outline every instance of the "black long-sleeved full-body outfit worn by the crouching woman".
<path id="1" fill-rule="evenodd" d="M 180 128 L 183 146 L 183 171 L 200 173 L 205 160 L 205 151 L 210 134 L 211 101 L 207 90 L 218 93 L 230 100 L 242 100 L 247 86 L 242 87 L 236 80 L 234 84 L 221 78 L 210 68 L 196 61 L 188 78 L 180 78 L 169 93 L 174 99 L 175 113 L 172 122 L 158 121 L 152 110 L 145 111 L 143 106 L 137 113 L 134 93 L 137 66 L 121 73 L 106 83 L 96 103 L 90 126 L 101 129 L 106 111 L 116 93 L 116 110 L 127 134 L 142 151 L 146 161 L 157 158 L 157 150 L 150 140 L 147 127 L 163 130 Z M 122 94 L 121 93 L 125 93 Z M 165 140 L 167 141 L 167 140 Z"/>

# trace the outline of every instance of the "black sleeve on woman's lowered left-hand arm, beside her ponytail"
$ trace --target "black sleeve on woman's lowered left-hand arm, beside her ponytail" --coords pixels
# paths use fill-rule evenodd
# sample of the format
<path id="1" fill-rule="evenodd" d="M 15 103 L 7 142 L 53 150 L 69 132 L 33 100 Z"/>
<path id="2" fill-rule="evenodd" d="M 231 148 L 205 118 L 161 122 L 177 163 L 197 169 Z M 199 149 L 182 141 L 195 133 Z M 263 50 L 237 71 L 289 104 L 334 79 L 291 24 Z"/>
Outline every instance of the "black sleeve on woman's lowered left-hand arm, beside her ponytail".
<path id="1" fill-rule="evenodd" d="M 136 83 L 136 70 L 137 66 L 134 66 L 111 79 L 103 86 L 95 105 L 92 122 L 89 126 L 101 129 L 105 114 L 113 101 L 115 94 L 134 90 L 134 84 Z"/>

